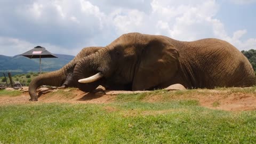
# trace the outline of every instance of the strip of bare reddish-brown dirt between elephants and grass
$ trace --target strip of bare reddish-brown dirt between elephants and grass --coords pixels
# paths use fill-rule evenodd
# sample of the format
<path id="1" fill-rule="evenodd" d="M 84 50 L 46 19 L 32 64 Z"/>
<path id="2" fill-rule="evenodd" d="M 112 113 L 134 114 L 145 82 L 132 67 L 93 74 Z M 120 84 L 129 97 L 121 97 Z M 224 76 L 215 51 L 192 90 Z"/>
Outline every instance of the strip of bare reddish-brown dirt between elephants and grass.
<path id="1" fill-rule="evenodd" d="M 57 92 L 56 92 L 57 91 Z M 22 104 L 22 103 L 48 103 L 48 102 L 68 102 L 68 103 L 108 103 L 113 102 L 119 93 L 134 93 L 131 91 L 105 91 L 84 93 L 79 90 L 58 90 L 41 92 L 37 102 L 29 101 L 28 92 L 23 92 L 16 97 L 1 95 L 0 105 Z M 219 90 L 197 90 L 199 93 L 192 93 L 189 96 L 179 95 L 170 99 L 193 99 L 198 100 L 201 106 L 228 111 L 256 110 L 256 91 L 252 93 L 234 92 Z M 135 92 L 140 93 L 141 91 Z M 204 93 L 206 92 L 206 94 Z M 169 93 L 172 93 L 170 91 Z M 150 95 L 143 101 L 158 102 L 164 101 L 162 95 Z"/>

